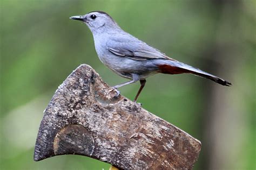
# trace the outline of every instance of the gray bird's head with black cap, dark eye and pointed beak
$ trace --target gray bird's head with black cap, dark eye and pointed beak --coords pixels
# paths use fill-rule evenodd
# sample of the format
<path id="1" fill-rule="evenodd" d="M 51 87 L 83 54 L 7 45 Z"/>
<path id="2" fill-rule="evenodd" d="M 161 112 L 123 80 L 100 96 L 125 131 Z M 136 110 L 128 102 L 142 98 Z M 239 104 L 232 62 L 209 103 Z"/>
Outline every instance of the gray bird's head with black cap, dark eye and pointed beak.
<path id="1" fill-rule="evenodd" d="M 70 19 L 80 20 L 84 22 L 92 33 L 101 32 L 107 29 L 119 28 L 113 18 L 106 12 L 93 11 L 83 16 L 73 16 Z"/>

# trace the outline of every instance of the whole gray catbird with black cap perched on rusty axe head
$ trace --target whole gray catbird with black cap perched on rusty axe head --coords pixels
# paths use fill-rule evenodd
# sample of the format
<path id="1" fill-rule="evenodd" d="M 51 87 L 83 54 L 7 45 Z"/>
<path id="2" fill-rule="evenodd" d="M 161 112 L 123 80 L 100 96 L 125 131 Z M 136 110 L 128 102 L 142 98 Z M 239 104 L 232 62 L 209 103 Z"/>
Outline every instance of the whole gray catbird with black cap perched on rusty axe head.
<path id="1" fill-rule="evenodd" d="M 144 88 L 146 78 L 157 73 L 191 73 L 223 86 L 232 85 L 217 76 L 169 58 L 158 49 L 122 30 L 106 12 L 93 11 L 84 16 L 70 17 L 70 19 L 80 20 L 89 27 L 93 34 L 99 60 L 104 65 L 114 73 L 131 79 L 128 82 L 114 86 L 114 89 L 140 81 L 140 88 L 134 102 L 137 101 L 140 92 Z"/>

